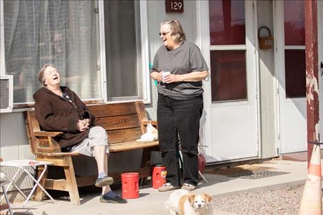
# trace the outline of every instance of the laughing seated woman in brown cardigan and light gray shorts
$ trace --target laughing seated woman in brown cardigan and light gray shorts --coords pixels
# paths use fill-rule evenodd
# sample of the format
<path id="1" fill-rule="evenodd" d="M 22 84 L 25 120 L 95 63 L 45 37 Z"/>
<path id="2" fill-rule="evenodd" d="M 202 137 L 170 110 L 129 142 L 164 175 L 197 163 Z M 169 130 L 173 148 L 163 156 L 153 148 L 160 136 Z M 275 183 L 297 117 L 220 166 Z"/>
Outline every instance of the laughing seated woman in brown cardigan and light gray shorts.
<path id="1" fill-rule="evenodd" d="M 39 124 L 45 131 L 61 131 L 58 143 L 63 151 L 78 152 L 96 158 L 98 179 L 102 187 L 100 202 L 126 203 L 111 191 L 113 178 L 108 177 L 108 135 L 104 128 L 95 126 L 95 117 L 78 95 L 60 86 L 60 75 L 53 65 L 44 65 L 38 73 L 43 87 L 34 93 L 35 111 Z"/>

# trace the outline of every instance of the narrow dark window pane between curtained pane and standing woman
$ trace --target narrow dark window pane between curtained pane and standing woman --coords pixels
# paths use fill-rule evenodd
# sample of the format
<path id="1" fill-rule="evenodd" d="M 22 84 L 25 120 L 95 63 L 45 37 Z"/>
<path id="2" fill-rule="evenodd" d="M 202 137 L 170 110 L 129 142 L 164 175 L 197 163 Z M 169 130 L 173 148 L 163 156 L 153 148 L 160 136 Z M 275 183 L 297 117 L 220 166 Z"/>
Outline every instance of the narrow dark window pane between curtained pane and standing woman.
<path id="1" fill-rule="evenodd" d="M 140 2 L 104 1 L 104 30 L 108 100 L 140 98 Z"/>

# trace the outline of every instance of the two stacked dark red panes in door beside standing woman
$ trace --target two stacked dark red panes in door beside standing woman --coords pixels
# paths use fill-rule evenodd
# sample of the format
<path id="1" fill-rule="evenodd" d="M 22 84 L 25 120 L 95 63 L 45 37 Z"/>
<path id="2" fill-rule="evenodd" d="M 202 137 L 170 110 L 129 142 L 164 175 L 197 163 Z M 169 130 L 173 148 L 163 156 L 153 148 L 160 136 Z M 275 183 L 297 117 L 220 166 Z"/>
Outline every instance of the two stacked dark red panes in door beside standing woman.
<path id="1" fill-rule="evenodd" d="M 247 100 L 245 1 L 209 1 L 212 102 Z"/>

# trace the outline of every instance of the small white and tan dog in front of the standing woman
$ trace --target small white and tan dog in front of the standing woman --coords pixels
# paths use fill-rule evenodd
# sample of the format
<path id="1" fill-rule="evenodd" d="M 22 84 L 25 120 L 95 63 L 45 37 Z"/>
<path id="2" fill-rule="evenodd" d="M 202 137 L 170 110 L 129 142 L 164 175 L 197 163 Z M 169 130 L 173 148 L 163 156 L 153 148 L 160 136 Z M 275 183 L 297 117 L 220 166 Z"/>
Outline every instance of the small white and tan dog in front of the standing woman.
<path id="1" fill-rule="evenodd" d="M 212 215 L 211 201 L 209 194 L 193 194 L 180 189 L 170 194 L 165 207 L 170 215 Z"/>

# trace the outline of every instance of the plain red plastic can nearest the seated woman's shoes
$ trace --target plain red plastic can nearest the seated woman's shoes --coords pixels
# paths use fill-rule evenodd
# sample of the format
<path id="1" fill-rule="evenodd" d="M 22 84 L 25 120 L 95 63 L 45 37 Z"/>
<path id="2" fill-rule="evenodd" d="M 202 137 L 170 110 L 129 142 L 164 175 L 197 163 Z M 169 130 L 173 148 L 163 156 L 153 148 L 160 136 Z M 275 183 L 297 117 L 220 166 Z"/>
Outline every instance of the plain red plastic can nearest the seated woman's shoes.
<path id="1" fill-rule="evenodd" d="M 139 198 L 139 173 L 126 172 L 121 174 L 122 181 L 122 198 L 137 199 Z"/>

